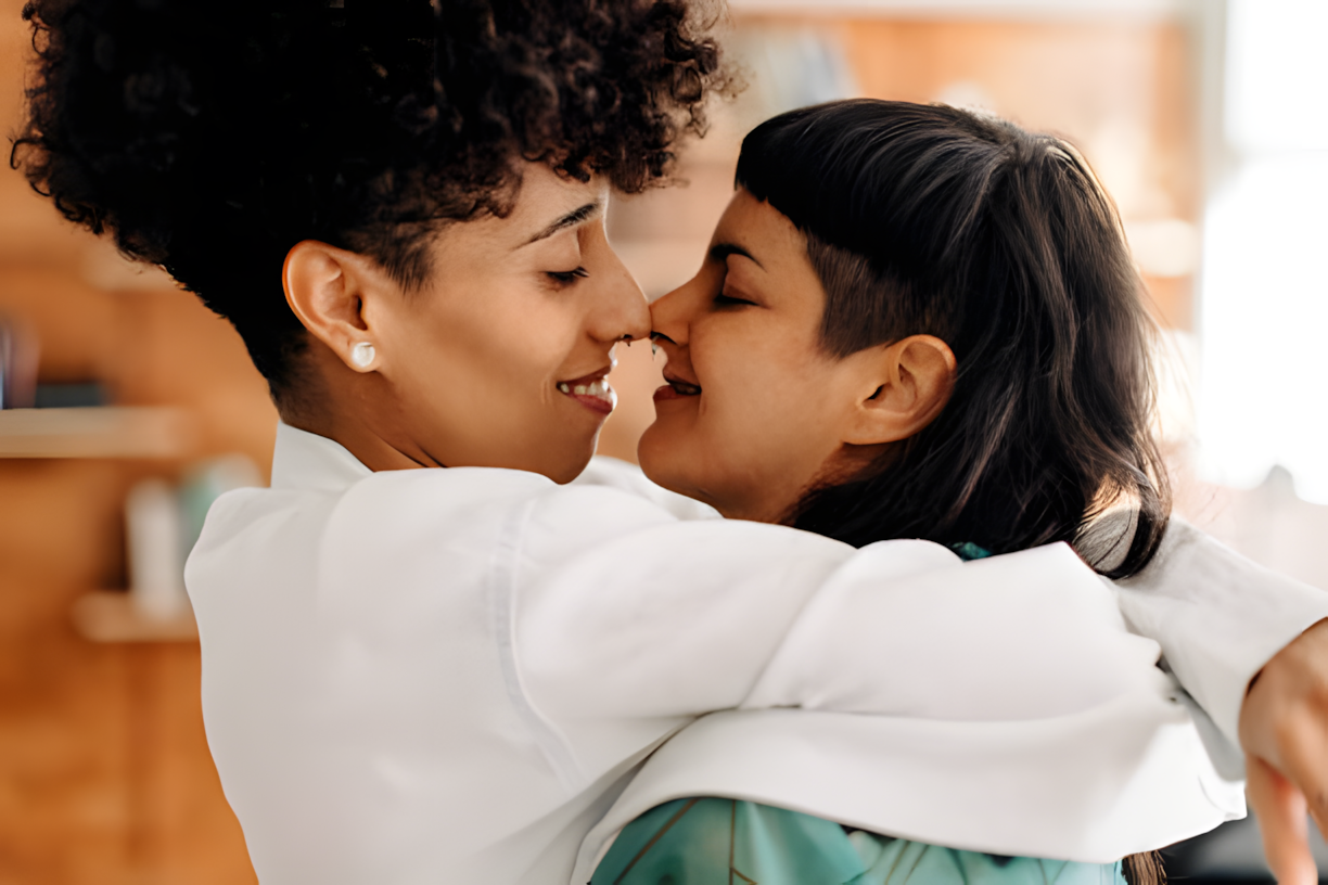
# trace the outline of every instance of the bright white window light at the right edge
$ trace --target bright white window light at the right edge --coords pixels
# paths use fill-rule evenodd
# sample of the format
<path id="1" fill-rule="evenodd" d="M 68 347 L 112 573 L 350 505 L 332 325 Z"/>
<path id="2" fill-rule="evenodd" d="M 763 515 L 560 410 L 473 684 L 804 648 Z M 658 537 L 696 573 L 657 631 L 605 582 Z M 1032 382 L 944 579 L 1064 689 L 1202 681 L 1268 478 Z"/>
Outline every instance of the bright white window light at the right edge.
<path id="1" fill-rule="evenodd" d="M 1323 0 L 1235 0 L 1226 133 L 1240 153 L 1204 218 L 1201 468 L 1275 464 L 1328 503 L 1328 36 Z"/>

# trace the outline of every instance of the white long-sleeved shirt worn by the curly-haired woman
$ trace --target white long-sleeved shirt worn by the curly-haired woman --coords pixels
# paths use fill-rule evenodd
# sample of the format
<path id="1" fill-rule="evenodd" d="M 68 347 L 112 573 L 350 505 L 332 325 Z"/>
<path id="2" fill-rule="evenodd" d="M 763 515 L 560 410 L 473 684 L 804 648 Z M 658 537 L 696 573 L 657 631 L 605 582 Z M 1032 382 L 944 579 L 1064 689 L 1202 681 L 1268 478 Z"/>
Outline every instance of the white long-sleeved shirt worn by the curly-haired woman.
<path id="1" fill-rule="evenodd" d="M 608 821 L 592 831 L 614 803 L 643 793 L 623 791 L 651 751 L 726 710 L 677 746 L 695 747 L 725 716 L 778 716 L 794 724 L 768 734 L 817 732 L 807 760 L 849 747 L 845 759 L 872 764 L 907 759 L 934 735 L 858 734 L 857 723 L 948 722 L 968 728 L 964 746 L 1001 766 L 1023 759 L 1035 775 L 1048 740 L 1065 746 L 1037 723 L 1134 715 L 1143 750 L 1120 763 L 1097 750 L 1066 756 L 1065 771 L 1108 766 L 1076 805 L 1080 823 L 1158 799 L 1145 776 L 1158 760 L 1181 764 L 1189 789 L 1161 823 L 1046 856 L 1239 813 L 1231 772 L 1198 751 L 1194 720 L 1151 666 L 1158 645 L 1122 628 L 1110 590 L 1064 545 L 960 564 L 922 541 L 855 551 L 782 527 L 680 519 L 703 512 L 607 463 L 563 487 L 493 468 L 373 474 L 335 442 L 279 427 L 272 488 L 219 499 L 186 572 L 208 743 L 260 881 L 562 885 L 578 853 L 591 864 L 611 837 Z M 1162 563 L 1174 573 L 1150 569 L 1120 592 L 1121 606 L 1234 734 L 1244 683 L 1328 616 L 1328 594 L 1232 555 L 1185 580 L 1215 556 L 1211 541 L 1187 539 Z M 768 709 L 782 706 L 817 713 Z M 984 728 L 1004 736 L 983 743 Z M 687 767 L 652 762 L 641 783 Z M 963 768 L 979 770 L 991 774 Z M 896 811 L 950 783 L 919 771 L 891 784 Z M 1008 800 L 1017 784 L 992 776 L 988 791 Z M 1044 778 L 1028 795 L 1054 805 L 1084 787 Z M 780 789 L 799 807 L 795 785 Z M 823 808 L 861 792 L 813 791 L 803 805 L 886 829 L 863 801 Z M 1001 851 L 1011 828 L 984 829 L 989 808 L 951 807 L 960 825 L 898 832 Z"/>

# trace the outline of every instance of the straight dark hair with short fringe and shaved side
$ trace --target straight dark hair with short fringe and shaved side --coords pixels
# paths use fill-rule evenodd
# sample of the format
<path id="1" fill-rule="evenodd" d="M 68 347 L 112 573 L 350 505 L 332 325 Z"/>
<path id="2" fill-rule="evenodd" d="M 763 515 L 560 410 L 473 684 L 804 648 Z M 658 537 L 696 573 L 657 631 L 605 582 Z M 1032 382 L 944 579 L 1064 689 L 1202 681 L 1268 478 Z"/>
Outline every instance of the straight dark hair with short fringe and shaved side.
<path id="1" fill-rule="evenodd" d="M 926 333 L 959 362 L 936 421 L 811 490 L 795 525 L 859 547 L 1069 541 L 1110 577 L 1147 564 L 1170 513 L 1154 326 L 1116 208 L 1072 146 L 955 107 L 850 100 L 758 126 L 737 183 L 806 236 L 827 353 Z M 1101 519 L 1120 510 L 1130 519 Z"/>

